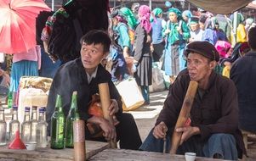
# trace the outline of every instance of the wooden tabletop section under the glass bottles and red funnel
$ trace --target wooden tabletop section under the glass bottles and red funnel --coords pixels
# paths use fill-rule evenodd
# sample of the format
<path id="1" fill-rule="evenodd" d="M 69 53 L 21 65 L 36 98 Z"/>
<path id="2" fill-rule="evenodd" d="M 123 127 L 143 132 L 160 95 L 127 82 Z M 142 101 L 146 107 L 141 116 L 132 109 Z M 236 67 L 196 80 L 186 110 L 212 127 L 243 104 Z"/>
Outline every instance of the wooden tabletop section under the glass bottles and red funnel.
<path id="1" fill-rule="evenodd" d="M 96 153 L 103 151 L 108 148 L 109 145 L 106 142 L 93 142 L 86 141 L 86 158 L 91 158 Z M 51 148 L 37 148 L 35 151 L 28 150 L 13 150 L 8 147 L 0 147 L 0 161 L 67 161 L 74 160 L 72 148 L 65 148 L 60 150 L 54 150 Z"/>

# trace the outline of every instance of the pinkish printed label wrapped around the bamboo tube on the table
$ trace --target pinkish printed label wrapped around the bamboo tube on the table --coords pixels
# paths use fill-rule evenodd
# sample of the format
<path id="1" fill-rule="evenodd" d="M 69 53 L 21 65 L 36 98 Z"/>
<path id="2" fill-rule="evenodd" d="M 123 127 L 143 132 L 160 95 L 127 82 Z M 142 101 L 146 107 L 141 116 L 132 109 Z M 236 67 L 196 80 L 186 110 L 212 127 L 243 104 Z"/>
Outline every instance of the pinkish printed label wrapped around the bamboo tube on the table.
<path id="1" fill-rule="evenodd" d="M 74 142 L 84 142 L 84 121 L 77 120 L 73 123 L 73 130 L 74 130 Z"/>

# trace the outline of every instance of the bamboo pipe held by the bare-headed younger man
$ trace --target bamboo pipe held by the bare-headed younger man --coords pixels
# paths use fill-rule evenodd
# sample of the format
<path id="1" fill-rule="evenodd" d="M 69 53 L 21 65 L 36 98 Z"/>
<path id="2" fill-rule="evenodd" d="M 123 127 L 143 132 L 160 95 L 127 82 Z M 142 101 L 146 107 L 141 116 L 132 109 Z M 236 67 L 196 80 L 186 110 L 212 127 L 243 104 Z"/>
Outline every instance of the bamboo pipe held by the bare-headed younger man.
<path id="1" fill-rule="evenodd" d="M 99 84 L 100 91 L 100 103 L 103 111 L 103 116 L 105 119 L 109 120 L 112 125 L 114 125 L 113 117 L 110 116 L 110 111 L 108 108 L 111 105 L 110 89 L 108 83 Z M 117 141 L 109 141 L 111 148 L 117 148 Z"/>

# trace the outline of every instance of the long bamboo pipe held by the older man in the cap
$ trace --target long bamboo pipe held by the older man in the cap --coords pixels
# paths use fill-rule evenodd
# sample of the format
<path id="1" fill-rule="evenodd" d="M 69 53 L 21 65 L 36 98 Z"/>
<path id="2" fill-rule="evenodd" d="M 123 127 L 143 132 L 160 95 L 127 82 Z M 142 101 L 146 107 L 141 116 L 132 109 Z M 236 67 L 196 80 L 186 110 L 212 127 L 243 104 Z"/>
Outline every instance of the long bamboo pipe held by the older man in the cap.
<path id="1" fill-rule="evenodd" d="M 183 127 L 185 125 L 185 121 L 189 118 L 191 113 L 191 107 L 194 102 L 194 97 L 196 95 L 197 86 L 198 83 L 196 81 L 191 80 L 188 90 L 185 94 L 185 98 L 179 112 L 179 118 L 177 119 L 173 132 L 172 145 L 170 150 L 170 153 L 172 154 L 176 153 L 182 135 L 181 132 L 176 132 L 175 129 L 178 127 Z"/>

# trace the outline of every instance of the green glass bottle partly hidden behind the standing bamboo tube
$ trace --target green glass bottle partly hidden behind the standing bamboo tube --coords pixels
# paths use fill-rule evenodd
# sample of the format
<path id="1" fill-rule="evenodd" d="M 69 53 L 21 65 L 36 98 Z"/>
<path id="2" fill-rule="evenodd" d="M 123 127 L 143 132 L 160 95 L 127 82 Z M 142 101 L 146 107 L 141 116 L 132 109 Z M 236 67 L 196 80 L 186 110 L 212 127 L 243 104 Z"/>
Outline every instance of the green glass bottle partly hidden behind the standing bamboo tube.
<path id="1" fill-rule="evenodd" d="M 65 126 L 65 147 L 73 148 L 74 147 L 74 138 L 73 138 L 73 122 L 75 119 L 79 119 L 79 114 L 77 111 L 77 92 L 73 92 L 71 108 L 69 114 L 66 117 L 66 126 Z"/>

